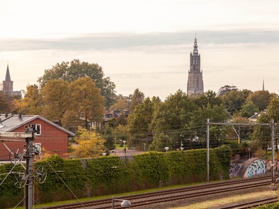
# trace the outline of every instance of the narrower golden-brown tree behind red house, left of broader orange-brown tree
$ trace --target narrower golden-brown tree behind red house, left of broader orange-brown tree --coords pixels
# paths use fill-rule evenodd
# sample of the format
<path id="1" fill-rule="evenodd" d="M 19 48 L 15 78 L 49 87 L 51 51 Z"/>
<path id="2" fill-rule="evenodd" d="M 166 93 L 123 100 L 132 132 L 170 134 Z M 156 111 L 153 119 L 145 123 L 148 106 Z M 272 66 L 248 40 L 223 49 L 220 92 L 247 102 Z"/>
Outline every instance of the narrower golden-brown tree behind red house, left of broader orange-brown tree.
<path id="1" fill-rule="evenodd" d="M 62 79 L 49 80 L 41 91 L 45 105 L 43 116 L 50 121 L 59 121 L 59 125 L 62 125 L 62 118 L 69 106 L 68 86 L 69 83 Z"/>

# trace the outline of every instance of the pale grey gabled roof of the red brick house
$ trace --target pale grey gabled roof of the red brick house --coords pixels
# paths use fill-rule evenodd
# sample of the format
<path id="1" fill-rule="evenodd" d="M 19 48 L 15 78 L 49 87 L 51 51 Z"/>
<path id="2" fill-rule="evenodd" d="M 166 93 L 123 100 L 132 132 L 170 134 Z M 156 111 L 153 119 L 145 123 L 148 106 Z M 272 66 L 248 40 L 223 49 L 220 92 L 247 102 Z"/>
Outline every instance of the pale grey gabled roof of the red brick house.
<path id="1" fill-rule="evenodd" d="M 66 132 L 70 136 L 75 136 L 73 132 L 70 132 L 66 130 L 65 128 L 61 127 L 60 125 L 57 125 L 55 123 L 52 123 L 52 121 L 48 121 L 46 118 L 43 118 L 42 116 L 36 115 L 7 115 L 7 114 L 0 114 L 0 132 L 12 132 L 13 130 L 17 129 L 18 127 L 21 127 L 22 125 L 26 125 L 28 123 L 31 123 L 35 119 L 39 118 L 42 121 L 45 121 L 45 123 L 49 123 L 50 125 L 58 128 L 59 130 Z"/>

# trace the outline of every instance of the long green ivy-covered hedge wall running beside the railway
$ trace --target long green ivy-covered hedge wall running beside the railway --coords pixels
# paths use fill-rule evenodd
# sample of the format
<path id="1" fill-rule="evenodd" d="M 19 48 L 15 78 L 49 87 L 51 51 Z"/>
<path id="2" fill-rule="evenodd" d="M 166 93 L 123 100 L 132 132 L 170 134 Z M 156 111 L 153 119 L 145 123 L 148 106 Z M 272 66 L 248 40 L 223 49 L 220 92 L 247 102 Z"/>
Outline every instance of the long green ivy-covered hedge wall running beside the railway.
<path id="1" fill-rule="evenodd" d="M 229 178 L 230 152 L 228 146 L 210 149 L 210 180 Z M 199 183 L 207 177 L 206 149 L 75 160 L 52 155 L 35 162 L 34 173 L 40 166 L 47 170 L 47 179 L 42 184 L 34 180 L 34 199 L 38 203 Z M 0 166 L 0 208 L 14 207 L 24 196 L 24 187 L 14 186 L 13 173 L 3 180 L 12 167 L 13 164 Z M 22 171 L 20 165 L 13 171 L 19 170 Z"/>

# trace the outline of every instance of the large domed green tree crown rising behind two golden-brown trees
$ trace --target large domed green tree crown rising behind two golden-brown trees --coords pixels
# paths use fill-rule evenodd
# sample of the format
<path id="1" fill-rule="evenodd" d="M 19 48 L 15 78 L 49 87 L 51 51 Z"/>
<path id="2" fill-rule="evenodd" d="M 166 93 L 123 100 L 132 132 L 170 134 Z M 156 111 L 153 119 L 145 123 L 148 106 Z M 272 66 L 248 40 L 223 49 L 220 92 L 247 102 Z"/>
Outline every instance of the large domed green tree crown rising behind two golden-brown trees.
<path id="1" fill-rule="evenodd" d="M 45 74 L 38 78 L 38 83 L 40 88 L 43 88 L 49 80 L 62 79 L 71 83 L 81 77 L 90 77 L 105 97 L 105 106 L 110 107 L 116 99 L 115 84 L 110 81 L 110 77 L 104 76 L 103 68 L 97 63 L 81 63 L 79 59 L 73 59 L 70 63 L 56 63 L 52 68 L 45 70 Z"/>

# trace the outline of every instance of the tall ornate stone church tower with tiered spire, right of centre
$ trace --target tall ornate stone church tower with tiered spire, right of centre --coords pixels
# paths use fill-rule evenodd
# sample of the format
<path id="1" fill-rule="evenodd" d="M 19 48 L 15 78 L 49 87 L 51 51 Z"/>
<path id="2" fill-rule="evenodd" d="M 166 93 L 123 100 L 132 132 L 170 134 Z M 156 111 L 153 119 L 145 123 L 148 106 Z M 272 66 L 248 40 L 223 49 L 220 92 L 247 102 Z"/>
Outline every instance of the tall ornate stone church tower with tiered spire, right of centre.
<path id="1" fill-rule="evenodd" d="M 204 93 L 204 81 L 200 68 L 200 55 L 197 51 L 197 38 L 195 37 L 193 54 L 190 52 L 190 70 L 188 71 L 187 95 Z"/>

